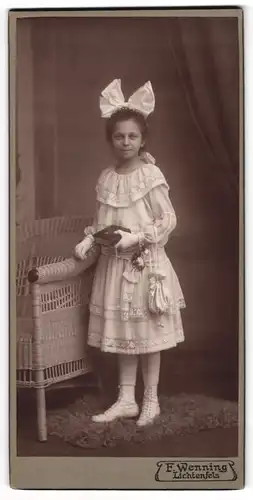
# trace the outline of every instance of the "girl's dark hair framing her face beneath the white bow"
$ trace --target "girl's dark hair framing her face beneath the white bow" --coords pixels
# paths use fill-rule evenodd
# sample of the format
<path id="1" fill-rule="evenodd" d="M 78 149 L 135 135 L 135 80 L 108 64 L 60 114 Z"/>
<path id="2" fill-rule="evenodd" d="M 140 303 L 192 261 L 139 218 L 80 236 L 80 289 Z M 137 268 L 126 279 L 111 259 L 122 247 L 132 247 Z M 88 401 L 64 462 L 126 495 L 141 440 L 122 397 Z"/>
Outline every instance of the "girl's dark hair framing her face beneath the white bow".
<path id="1" fill-rule="evenodd" d="M 120 108 L 114 111 L 114 113 L 107 118 L 106 120 L 106 140 L 111 143 L 112 142 L 112 134 L 115 128 L 116 123 L 123 122 L 126 120 L 134 120 L 137 125 L 140 127 L 142 139 L 146 141 L 148 135 L 148 124 L 144 115 L 135 109 L 129 108 Z M 141 148 L 142 150 L 144 148 Z"/>

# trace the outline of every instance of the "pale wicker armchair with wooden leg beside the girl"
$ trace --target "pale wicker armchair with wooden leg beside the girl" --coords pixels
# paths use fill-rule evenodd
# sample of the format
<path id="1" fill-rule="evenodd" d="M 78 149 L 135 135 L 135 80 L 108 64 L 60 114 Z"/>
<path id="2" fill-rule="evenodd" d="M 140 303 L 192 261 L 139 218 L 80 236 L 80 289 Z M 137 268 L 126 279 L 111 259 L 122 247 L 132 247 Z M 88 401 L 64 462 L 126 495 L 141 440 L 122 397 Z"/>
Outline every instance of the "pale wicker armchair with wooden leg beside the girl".
<path id="1" fill-rule="evenodd" d="M 47 440 L 46 388 L 92 371 L 86 335 L 99 250 L 85 261 L 70 257 L 89 224 L 55 217 L 17 228 L 17 386 L 36 389 L 40 441 Z"/>

